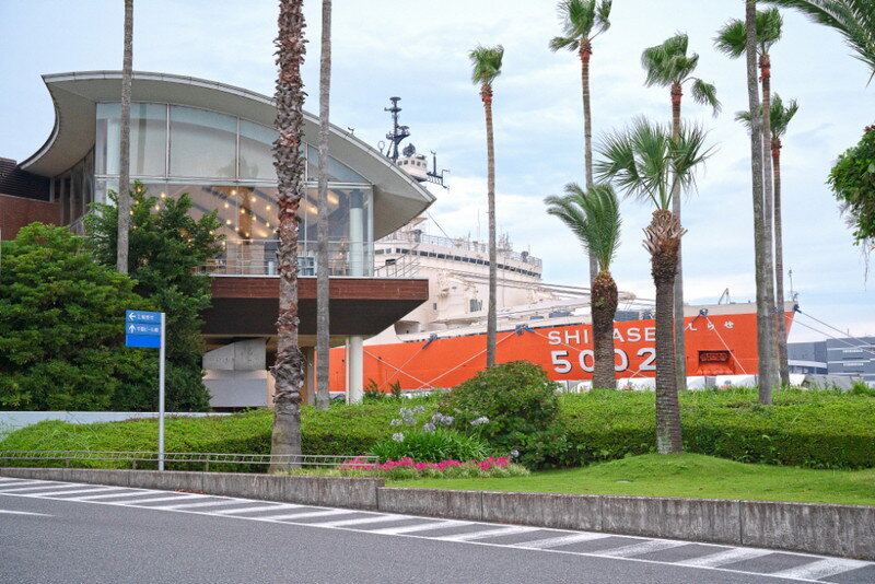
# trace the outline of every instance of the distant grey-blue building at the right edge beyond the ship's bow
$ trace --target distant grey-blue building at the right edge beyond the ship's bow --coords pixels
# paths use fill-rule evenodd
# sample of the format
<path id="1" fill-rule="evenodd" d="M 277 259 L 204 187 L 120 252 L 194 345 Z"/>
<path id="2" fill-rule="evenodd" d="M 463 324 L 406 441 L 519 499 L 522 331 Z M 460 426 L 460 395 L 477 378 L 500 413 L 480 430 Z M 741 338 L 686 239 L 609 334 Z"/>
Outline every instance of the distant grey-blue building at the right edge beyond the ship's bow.
<path id="1" fill-rule="evenodd" d="M 845 375 L 875 384 L 875 337 L 788 343 L 790 373 Z"/>

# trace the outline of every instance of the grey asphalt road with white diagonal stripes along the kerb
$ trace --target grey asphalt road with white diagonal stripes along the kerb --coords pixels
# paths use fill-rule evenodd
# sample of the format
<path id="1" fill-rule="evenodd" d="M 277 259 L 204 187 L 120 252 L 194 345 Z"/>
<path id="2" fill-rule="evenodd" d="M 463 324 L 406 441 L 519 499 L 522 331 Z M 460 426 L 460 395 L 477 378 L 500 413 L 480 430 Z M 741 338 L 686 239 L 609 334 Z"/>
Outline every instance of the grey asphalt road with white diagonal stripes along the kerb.
<path id="1" fill-rule="evenodd" d="M 1 583 L 873 583 L 751 548 L 0 478 Z"/>

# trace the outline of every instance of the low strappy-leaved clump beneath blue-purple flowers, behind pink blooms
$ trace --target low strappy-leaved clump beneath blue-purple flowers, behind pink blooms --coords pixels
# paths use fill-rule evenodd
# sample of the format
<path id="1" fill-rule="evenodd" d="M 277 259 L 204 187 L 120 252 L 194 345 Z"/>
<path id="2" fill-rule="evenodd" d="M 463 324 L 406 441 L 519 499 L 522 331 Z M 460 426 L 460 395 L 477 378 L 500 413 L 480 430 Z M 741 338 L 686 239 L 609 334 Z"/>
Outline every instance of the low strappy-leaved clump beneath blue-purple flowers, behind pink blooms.
<path id="1" fill-rule="evenodd" d="M 381 463 L 405 457 L 412 458 L 417 463 L 479 460 L 489 455 L 489 446 L 475 436 L 438 428 L 432 432 L 421 430 L 396 432 L 392 437 L 374 444 L 371 454 L 378 456 Z"/>

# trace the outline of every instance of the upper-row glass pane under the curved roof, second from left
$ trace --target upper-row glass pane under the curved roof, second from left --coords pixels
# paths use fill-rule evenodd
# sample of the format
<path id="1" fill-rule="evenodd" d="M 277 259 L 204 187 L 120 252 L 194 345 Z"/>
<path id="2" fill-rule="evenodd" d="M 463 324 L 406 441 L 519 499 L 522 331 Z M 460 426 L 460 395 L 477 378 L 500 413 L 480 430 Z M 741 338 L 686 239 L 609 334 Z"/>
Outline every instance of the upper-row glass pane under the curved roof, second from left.
<path id="1" fill-rule="evenodd" d="M 236 132 L 236 118 L 171 106 L 171 176 L 234 178 Z"/>

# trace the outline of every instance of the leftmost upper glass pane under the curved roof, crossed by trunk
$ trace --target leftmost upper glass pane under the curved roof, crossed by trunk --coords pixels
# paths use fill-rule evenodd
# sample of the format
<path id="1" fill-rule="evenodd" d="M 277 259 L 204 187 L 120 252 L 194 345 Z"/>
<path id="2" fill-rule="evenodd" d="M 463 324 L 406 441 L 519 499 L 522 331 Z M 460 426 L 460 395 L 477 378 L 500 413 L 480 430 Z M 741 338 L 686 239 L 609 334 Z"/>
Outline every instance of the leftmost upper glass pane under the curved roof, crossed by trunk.
<path id="1" fill-rule="evenodd" d="M 95 172 L 118 174 L 121 104 L 97 104 Z M 130 175 L 164 176 L 167 106 L 130 105 Z"/>

